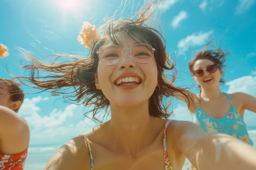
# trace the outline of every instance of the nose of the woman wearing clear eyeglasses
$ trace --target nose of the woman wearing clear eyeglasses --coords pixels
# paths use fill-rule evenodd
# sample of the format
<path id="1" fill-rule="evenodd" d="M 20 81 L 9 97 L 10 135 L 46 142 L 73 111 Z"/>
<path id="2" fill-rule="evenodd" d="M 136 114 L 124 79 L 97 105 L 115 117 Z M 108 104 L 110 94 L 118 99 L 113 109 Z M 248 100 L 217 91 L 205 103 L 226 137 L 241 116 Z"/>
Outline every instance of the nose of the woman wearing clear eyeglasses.
<path id="1" fill-rule="evenodd" d="M 132 58 L 132 55 L 129 50 L 123 51 L 123 55 L 120 58 L 119 61 L 119 68 L 124 69 L 124 68 L 135 68 L 135 60 Z"/>

